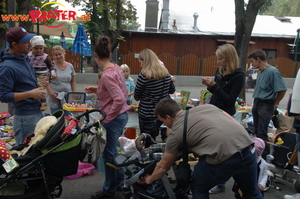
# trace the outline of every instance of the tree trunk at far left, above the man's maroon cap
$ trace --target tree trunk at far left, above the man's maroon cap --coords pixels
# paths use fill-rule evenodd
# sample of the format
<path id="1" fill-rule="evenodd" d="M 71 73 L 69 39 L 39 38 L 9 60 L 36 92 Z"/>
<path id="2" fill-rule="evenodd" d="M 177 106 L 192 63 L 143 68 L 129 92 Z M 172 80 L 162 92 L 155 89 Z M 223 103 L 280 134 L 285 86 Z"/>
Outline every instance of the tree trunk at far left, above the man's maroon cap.
<path id="1" fill-rule="evenodd" d="M 28 15 L 33 9 L 31 0 L 16 0 L 18 4 L 18 14 Z M 22 26 L 28 32 L 33 32 L 33 24 L 31 21 L 20 21 L 19 26 Z"/>

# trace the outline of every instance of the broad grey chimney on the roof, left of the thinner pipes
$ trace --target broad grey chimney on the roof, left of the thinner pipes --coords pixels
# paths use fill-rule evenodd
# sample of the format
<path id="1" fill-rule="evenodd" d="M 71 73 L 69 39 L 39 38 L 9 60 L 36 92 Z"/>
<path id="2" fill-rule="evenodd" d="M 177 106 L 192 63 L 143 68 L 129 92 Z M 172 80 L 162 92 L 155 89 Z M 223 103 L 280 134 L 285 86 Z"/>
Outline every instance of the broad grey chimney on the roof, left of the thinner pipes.
<path id="1" fill-rule="evenodd" d="M 146 1 L 146 31 L 157 31 L 157 19 L 158 19 L 158 1 L 147 0 Z"/>

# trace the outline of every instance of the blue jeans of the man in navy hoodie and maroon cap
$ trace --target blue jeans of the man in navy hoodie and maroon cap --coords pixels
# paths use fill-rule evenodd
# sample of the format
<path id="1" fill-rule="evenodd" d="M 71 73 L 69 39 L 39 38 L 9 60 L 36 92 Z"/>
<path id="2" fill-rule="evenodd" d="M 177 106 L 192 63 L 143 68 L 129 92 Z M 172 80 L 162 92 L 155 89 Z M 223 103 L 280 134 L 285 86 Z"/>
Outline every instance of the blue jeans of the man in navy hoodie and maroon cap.
<path id="1" fill-rule="evenodd" d="M 22 144 L 24 139 L 34 132 L 36 123 L 42 119 L 42 112 L 35 115 L 15 115 L 13 129 L 15 132 L 16 146 Z"/>

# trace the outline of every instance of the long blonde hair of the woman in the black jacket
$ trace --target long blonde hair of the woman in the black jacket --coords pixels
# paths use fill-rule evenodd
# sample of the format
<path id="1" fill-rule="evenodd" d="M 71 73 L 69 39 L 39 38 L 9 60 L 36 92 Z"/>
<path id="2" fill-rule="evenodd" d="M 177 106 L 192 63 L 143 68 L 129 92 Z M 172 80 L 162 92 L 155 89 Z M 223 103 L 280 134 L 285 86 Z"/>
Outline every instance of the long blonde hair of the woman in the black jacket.
<path id="1" fill-rule="evenodd" d="M 216 51 L 216 55 L 217 57 L 221 57 L 227 61 L 226 70 L 224 70 L 222 67 L 219 68 L 221 75 L 225 76 L 232 74 L 239 67 L 239 57 L 233 45 L 225 44 L 219 46 Z"/>

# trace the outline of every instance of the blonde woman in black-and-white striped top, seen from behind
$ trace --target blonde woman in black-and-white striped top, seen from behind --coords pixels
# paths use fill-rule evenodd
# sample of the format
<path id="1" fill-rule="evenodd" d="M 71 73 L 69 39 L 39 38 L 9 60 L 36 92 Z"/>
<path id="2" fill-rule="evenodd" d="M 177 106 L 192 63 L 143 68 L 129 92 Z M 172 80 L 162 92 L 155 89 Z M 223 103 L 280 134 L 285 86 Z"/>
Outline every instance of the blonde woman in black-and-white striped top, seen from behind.
<path id="1" fill-rule="evenodd" d="M 175 86 L 166 67 L 162 67 L 156 54 L 150 49 L 140 52 L 142 67 L 134 91 L 134 99 L 139 103 L 139 126 L 141 133 L 149 133 L 154 139 L 162 122 L 154 114 L 156 104 L 175 92 Z"/>

